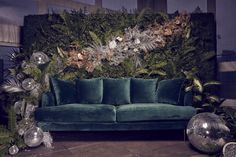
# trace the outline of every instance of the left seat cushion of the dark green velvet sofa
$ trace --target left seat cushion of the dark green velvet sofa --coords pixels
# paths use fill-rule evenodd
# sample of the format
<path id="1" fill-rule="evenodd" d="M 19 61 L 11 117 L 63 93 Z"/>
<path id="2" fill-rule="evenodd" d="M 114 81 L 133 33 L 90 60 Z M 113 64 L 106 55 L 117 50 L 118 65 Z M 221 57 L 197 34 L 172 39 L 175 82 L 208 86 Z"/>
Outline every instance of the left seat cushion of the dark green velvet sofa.
<path id="1" fill-rule="evenodd" d="M 113 105 L 66 104 L 38 108 L 35 119 L 41 122 L 114 122 L 116 111 Z"/>

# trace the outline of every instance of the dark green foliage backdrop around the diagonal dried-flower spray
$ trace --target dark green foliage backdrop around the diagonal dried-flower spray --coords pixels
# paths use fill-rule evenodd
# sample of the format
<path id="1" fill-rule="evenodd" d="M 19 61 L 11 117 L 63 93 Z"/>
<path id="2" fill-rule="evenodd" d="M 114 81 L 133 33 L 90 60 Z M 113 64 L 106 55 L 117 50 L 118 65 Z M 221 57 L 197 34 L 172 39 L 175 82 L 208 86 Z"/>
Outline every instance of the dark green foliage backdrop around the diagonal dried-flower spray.
<path id="1" fill-rule="evenodd" d="M 71 46 L 79 45 L 79 49 L 85 48 L 93 42 L 90 32 L 96 34 L 103 44 L 107 44 L 114 36 L 119 36 L 128 27 L 138 25 L 140 29 L 152 23 L 163 24 L 168 19 L 177 16 L 178 13 L 166 15 L 162 13 L 150 13 L 143 11 L 137 14 L 126 12 L 106 14 L 97 12 L 84 15 L 81 12 L 64 12 L 61 15 L 33 15 L 25 17 L 23 31 L 23 55 L 30 55 L 35 51 L 43 51 L 52 56 L 57 52 L 57 47 L 69 50 Z M 198 68 L 202 79 L 215 77 L 215 21 L 212 14 L 191 14 L 190 38 L 173 36 L 162 49 L 153 50 L 153 53 L 145 58 L 142 68 L 145 69 L 143 77 L 150 71 L 153 72 L 152 63 L 165 62 L 163 72 L 157 71 L 163 78 L 181 76 L 182 70 Z M 106 63 L 104 63 L 105 65 Z M 131 60 L 125 60 L 119 66 L 106 66 L 102 71 L 95 70 L 92 74 L 77 69 L 77 74 L 82 77 L 95 76 L 136 76 L 137 69 Z M 164 64 L 164 63 L 163 63 Z M 75 71 L 75 69 L 68 70 Z M 76 74 L 76 75 L 77 75 Z M 155 75 L 152 75 L 155 76 Z M 68 78 L 68 77 L 67 77 Z"/>

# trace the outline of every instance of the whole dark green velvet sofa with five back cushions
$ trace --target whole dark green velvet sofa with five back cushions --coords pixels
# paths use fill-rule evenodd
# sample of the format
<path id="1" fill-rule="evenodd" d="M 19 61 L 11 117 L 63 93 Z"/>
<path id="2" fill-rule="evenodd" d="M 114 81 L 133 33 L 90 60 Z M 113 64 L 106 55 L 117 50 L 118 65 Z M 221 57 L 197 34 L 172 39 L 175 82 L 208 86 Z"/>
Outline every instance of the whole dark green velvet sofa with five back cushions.
<path id="1" fill-rule="evenodd" d="M 74 82 L 50 78 L 35 111 L 44 131 L 185 129 L 196 114 L 185 80 L 93 78 Z"/>

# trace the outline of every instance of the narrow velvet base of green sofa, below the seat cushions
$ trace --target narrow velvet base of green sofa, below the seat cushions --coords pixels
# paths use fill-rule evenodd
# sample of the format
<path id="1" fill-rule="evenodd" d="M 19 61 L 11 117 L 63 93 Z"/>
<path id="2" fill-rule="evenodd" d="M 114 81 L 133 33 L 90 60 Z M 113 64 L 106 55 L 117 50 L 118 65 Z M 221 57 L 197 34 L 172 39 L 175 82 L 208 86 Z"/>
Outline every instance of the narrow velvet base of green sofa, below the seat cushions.
<path id="1" fill-rule="evenodd" d="M 38 122 L 44 131 L 134 131 L 134 130 L 179 130 L 185 129 L 188 120 L 130 123 L 65 123 Z"/>

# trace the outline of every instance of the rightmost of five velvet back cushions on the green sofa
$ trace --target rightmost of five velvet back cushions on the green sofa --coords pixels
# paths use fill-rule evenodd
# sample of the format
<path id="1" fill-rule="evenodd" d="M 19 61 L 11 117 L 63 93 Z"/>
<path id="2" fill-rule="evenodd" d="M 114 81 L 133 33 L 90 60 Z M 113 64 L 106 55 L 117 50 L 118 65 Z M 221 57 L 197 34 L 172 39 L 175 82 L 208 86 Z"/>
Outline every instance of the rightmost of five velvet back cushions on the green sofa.
<path id="1" fill-rule="evenodd" d="M 157 102 L 184 105 L 181 100 L 184 81 L 182 78 L 160 81 L 157 88 Z"/>

